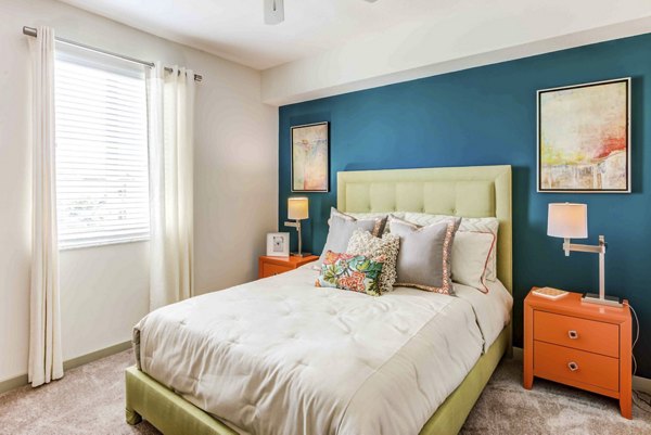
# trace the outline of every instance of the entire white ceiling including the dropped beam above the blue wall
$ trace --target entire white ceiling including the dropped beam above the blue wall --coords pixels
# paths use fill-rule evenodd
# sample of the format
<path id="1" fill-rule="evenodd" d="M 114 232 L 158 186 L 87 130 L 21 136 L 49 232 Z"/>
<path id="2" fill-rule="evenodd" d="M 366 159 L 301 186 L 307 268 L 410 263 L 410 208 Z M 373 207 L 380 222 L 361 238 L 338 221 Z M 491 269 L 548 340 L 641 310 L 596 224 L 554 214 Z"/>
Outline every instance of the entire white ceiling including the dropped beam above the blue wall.
<path id="1" fill-rule="evenodd" d="M 60 0 L 263 71 L 282 105 L 651 31 L 649 0 Z"/>

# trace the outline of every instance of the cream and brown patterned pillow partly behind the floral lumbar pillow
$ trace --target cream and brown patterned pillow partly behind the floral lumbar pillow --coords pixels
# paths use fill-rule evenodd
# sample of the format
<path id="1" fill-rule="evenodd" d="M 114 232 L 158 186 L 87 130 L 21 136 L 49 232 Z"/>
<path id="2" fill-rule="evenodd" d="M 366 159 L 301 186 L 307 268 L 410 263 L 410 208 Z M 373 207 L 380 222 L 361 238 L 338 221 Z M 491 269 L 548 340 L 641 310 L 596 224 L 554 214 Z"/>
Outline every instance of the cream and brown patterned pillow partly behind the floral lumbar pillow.
<path id="1" fill-rule="evenodd" d="M 348 242 L 346 254 L 384 258 L 384 267 L 380 276 L 380 290 L 384 293 L 391 292 L 396 282 L 396 261 L 399 248 L 400 238 L 395 234 L 384 233 L 380 239 L 368 231 L 356 230 Z"/>

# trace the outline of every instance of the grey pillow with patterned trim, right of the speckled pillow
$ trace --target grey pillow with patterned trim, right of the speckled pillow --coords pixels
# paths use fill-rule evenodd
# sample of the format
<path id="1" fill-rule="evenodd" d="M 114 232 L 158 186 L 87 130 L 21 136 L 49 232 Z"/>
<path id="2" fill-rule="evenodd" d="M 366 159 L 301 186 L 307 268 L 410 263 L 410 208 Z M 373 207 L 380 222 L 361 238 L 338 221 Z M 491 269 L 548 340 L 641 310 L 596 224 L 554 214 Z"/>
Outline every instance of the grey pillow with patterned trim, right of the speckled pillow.
<path id="1" fill-rule="evenodd" d="M 390 218 L 391 233 L 400 238 L 395 285 L 452 294 L 451 251 L 461 218 L 421 227 Z"/>

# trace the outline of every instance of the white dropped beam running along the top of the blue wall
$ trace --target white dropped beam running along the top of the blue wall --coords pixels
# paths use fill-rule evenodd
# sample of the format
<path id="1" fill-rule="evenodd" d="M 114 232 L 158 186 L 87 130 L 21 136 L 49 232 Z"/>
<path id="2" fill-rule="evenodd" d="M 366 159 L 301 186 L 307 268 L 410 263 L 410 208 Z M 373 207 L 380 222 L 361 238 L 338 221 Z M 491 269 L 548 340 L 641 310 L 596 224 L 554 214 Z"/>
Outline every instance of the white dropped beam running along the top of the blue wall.
<path id="1" fill-rule="evenodd" d="M 651 31 L 648 1 L 470 3 L 266 69 L 263 101 L 291 104 Z"/>

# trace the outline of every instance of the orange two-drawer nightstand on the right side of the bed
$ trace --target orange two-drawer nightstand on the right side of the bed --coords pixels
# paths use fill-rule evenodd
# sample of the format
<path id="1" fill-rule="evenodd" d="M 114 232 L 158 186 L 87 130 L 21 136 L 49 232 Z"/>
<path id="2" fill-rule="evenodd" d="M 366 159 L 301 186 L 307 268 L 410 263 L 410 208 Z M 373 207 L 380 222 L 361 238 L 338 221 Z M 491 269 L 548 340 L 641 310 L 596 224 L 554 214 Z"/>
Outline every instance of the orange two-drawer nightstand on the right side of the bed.
<path id="1" fill-rule="evenodd" d="M 624 307 L 582 303 L 580 294 L 524 299 L 524 387 L 534 376 L 620 399 L 631 418 L 631 330 Z"/>

